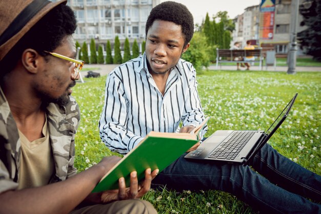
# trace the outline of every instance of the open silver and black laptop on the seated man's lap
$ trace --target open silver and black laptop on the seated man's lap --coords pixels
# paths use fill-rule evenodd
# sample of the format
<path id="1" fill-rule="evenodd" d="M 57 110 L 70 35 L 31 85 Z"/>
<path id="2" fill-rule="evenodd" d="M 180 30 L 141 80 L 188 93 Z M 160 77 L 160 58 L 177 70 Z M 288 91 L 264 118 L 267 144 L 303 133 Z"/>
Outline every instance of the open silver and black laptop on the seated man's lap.
<path id="1" fill-rule="evenodd" d="M 197 149 L 188 153 L 185 158 L 247 165 L 287 118 L 296 97 L 297 93 L 266 132 L 218 130 L 205 139 Z"/>

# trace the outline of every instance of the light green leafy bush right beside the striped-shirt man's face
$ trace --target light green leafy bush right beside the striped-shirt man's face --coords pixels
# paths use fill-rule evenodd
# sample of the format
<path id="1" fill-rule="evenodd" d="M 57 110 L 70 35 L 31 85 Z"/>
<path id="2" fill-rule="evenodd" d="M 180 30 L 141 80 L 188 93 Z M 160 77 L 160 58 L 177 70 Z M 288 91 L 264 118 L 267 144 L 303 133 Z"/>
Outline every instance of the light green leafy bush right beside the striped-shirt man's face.
<path id="1" fill-rule="evenodd" d="M 200 72 L 203 67 L 209 66 L 213 47 L 208 46 L 207 38 L 201 32 L 194 33 L 190 44 L 190 48 L 182 55 L 182 58 L 193 63 L 196 72 Z"/>

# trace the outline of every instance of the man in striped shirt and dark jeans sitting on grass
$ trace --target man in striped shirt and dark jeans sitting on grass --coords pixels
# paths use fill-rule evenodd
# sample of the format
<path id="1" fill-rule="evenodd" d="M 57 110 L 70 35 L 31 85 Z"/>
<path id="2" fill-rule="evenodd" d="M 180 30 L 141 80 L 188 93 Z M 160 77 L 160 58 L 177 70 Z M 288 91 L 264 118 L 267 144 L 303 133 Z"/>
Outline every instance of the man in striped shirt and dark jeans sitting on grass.
<path id="1" fill-rule="evenodd" d="M 111 151 L 125 155 L 150 131 L 189 132 L 205 119 L 196 71 L 190 62 L 180 59 L 192 35 L 193 17 L 184 5 L 164 2 L 152 9 L 146 23 L 146 52 L 118 66 L 107 77 L 99 133 Z M 181 122 L 183 127 L 179 128 Z M 251 164 L 274 183 L 280 180 L 279 186 L 249 166 L 191 161 L 185 155 L 152 183 L 176 190 L 227 191 L 270 213 L 321 212 L 320 205 L 304 198 L 321 201 L 319 176 L 279 155 L 269 145 Z"/>

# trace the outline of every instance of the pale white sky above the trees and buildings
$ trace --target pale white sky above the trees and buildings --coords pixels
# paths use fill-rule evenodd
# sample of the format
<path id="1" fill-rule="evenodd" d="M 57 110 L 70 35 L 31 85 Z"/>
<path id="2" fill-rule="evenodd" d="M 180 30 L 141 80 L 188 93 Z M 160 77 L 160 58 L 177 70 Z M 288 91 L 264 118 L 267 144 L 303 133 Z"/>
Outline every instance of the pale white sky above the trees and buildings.
<path id="1" fill-rule="evenodd" d="M 244 9 L 259 5 L 260 0 L 171 0 L 185 5 L 194 16 L 194 24 L 201 24 L 208 12 L 210 18 L 218 11 L 227 11 L 230 18 L 242 14 Z M 165 2 L 165 0 L 161 1 Z"/>

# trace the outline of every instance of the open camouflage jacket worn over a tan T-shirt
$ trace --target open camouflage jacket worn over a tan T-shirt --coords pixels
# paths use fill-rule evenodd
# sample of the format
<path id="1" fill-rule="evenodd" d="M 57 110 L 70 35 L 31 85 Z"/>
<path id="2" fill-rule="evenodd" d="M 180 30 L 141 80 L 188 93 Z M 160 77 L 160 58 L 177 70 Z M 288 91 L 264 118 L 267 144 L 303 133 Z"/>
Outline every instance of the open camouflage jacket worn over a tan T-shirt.
<path id="1" fill-rule="evenodd" d="M 50 103 L 47 121 L 55 164 L 55 174 L 50 183 L 66 180 L 76 174 L 74 167 L 75 133 L 80 112 L 75 99 L 70 96 L 66 107 Z M 15 189 L 18 184 L 21 142 L 9 104 L 0 88 L 0 192 Z"/>

